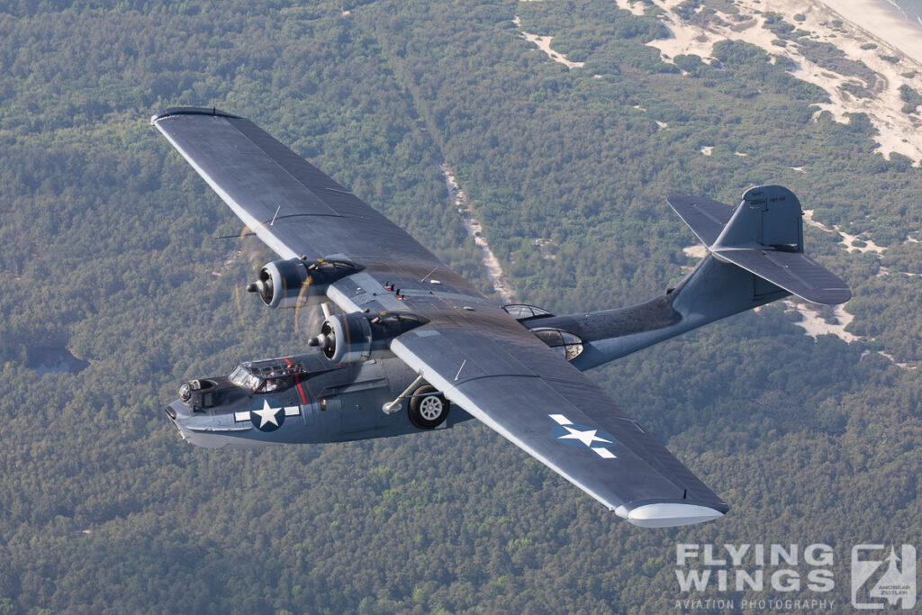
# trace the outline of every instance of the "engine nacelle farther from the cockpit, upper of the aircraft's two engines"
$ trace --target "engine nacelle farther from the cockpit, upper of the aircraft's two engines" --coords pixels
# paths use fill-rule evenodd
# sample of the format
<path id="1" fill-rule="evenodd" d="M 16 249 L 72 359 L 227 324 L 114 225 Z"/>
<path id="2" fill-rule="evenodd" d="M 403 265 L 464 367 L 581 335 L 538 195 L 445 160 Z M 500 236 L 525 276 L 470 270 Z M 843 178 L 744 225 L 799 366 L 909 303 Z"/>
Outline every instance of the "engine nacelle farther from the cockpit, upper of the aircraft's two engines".
<path id="1" fill-rule="evenodd" d="M 272 261 L 246 290 L 258 293 L 271 308 L 304 307 L 328 301 L 325 293 L 330 284 L 359 271 L 360 266 L 347 261 Z"/>

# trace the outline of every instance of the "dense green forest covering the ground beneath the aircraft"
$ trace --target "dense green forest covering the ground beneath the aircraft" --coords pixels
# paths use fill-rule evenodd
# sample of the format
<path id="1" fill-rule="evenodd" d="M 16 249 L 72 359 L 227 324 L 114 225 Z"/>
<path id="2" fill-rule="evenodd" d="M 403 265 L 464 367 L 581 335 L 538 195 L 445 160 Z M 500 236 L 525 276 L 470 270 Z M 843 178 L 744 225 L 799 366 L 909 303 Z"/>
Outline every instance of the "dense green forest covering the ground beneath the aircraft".
<path id="1" fill-rule="evenodd" d="M 922 548 L 919 167 L 875 151 L 866 116 L 818 113 L 822 89 L 770 53 L 724 42 L 717 63 L 668 63 L 644 44 L 664 35 L 655 7 L 609 0 L 0 6 L 0 613 L 647 613 L 779 597 L 680 591 L 679 543 L 828 544 L 822 597 L 847 605 L 853 545 Z M 644 301 L 694 265 L 670 192 L 736 204 L 781 183 L 885 251 L 805 227 L 852 287 L 854 341 L 805 336 L 779 303 L 589 373 L 731 505 L 709 524 L 631 526 L 475 421 L 197 449 L 161 409 L 178 386 L 307 336 L 243 292 L 274 254 L 216 239 L 241 223 L 149 125 L 176 105 L 252 119 L 495 296 L 447 163 L 516 301 L 553 313 Z M 41 369 L 62 355 L 82 362 Z M 782 597 L 798 596 L 812 597 Z"/>

